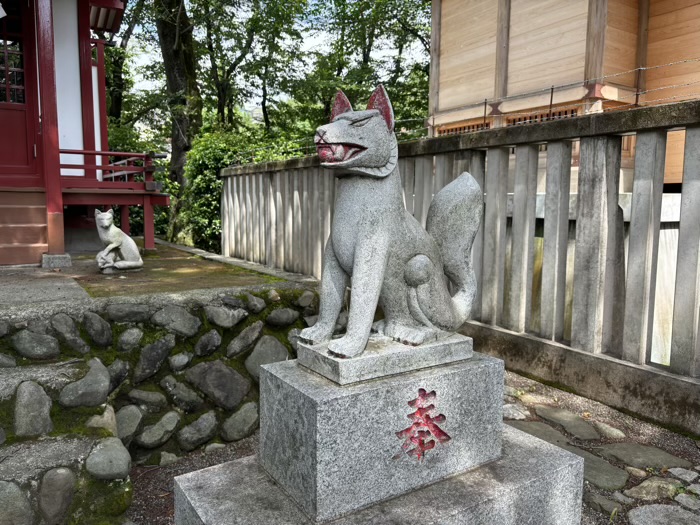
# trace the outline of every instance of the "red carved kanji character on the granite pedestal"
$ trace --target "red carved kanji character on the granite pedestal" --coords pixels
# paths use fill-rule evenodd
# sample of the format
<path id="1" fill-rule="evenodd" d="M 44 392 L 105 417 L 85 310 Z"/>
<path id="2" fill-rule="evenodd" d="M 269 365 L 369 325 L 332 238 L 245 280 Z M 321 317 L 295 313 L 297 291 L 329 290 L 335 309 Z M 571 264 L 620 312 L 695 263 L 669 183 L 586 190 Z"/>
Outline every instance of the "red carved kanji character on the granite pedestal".
<path id="1" fill-rule="evenodd" d="M 408 402 L 408 406 L 416 409 L 415 412 L 408 415 L 408 419 L 413 421 L 413 424 L 396 433 L 400 439 L 404 440 L 401 446 L 404 452 L 415 456 L 418 460 L 422 460 L 428 450 L 435 448 L 436 441 L 444 444 L 451 439 L 447 432 L 438 426 L 447 419 L 444 414 L 437 416 L 432 414 L 432 411 L 435 410 L 435 405 L 432 402 L 436 397 L 435 390 L 427 392 L 424 388 L 419 388 L 418 397 Z"/>

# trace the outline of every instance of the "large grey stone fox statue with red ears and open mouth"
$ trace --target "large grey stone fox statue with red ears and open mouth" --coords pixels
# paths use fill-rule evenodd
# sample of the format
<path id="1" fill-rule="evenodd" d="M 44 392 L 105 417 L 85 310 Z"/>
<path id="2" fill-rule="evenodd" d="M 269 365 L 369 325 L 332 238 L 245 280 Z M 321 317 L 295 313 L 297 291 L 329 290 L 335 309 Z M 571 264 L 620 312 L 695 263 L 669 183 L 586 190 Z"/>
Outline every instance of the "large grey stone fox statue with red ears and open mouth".
<path id="1" fill-rule="evenodd" d="M 423 229 L 404 206 L 394 112 L 382 86 L 365 111 L 353 111 L 339 92 L 330 124 L 318 128 L 314 141 L 322 166 L 336 170 L 338 185 L 319 319 L 301 338 L 330 341 L 332 354 L 359 355 L 377 304 L 385 319 L 374 329 L 394 340 L 419 345 L 453 333 L 469 316 L 476 294 L 471 247 L 483 210 L 479 184 L 465 172 L 443 188 Z M 349 281 L 347 333 L 331 341 Z"/>

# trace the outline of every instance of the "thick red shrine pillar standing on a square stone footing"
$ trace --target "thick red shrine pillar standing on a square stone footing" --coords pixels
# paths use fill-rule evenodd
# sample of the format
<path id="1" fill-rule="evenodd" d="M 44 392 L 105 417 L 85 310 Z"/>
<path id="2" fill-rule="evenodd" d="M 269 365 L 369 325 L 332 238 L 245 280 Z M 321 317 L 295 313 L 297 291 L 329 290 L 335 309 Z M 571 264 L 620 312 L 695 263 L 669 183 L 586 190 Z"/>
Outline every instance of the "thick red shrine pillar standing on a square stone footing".
<path id="1" fill-rule="evenodd" d="M 39 58 L 43 171 L 46 183 L 46 211 L 50 254 L 65 253 L 63 235 L 63 195 L 61 193 L 61 157 L 58 147 L 58 109 L 56 102 L 56 57 L 54 53 L 52 0 L 36 1 L 36 41 Z"/>

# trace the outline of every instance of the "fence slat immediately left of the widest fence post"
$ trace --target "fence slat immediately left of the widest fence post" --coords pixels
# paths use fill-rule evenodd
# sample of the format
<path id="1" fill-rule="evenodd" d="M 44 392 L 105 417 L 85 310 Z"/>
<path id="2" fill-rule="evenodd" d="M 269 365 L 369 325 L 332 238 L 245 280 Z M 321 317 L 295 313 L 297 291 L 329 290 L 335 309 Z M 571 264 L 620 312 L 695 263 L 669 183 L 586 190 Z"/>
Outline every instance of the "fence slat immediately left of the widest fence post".
<path id="1" fill-rule="evenodd" d="M 570 184 L 571 143 L 550 142 L 547 146 L 540 334 L 553 340 L 560 340 L 564 335 Z"/>

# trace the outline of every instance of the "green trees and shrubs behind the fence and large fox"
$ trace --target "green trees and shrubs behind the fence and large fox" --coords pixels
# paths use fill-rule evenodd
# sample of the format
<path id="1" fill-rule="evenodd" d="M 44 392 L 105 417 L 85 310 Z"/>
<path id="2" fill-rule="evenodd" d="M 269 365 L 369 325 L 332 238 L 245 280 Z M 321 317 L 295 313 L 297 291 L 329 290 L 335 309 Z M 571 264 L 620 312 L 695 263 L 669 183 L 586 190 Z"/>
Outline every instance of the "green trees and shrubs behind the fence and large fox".
<path id="1" fill-rule="evenodd" d="M 129 3 L 122 26 L 126 34 L 119 47 L 107 53 L 108 78 L 120 79 L 110 87 L 110 101 L 121 104 L 119 118 L 110 123 L 110 146 L 115 150 L 172 147 L 182 152 L 175 144 L 188 133 L 178 124 L 174 109 L 183 94 L 165 94 L 162 57 L 152 59 L 154 50 L 163 54 L 169 49 L 161 45 L 154 5 L 143 0 Z M 430 0 L 190 0 L 186 5 L 203 125 L 184 146 L 189 149 L 185 185 L 166 185 L 179 201 L 173 199 L 171 211 L 156 211 L 157 234 L 167 231 L 171 240 L 218 251 L 219 171 L 313 154 L 314 130 L 328 121 L 338 89 L 361 109 L 376 85 L 384 84 L 399 140 L 425 135 Z M 138 23 L 132 27 L 134 20 Z M 139 49 L 138 55 L 134 49 Z M 150 56 L 144 63 L 146 54 Z M 119 68 L 121 77 L 115 74 Z M 144 84 L 149 87 L 143 89 Z M 115 89 L 123 90 L 121 97 Z M 259 108 L 261 122 L 241 111 L 250 104 Z M 182 162 L 182 156 L 175 155 L 169 175 L 159 180 L 167 183 L 168 177 L 180 173 Z M 140 234 L 139 208 L 132 208 L 131 223 L 132 232 Z"/>

